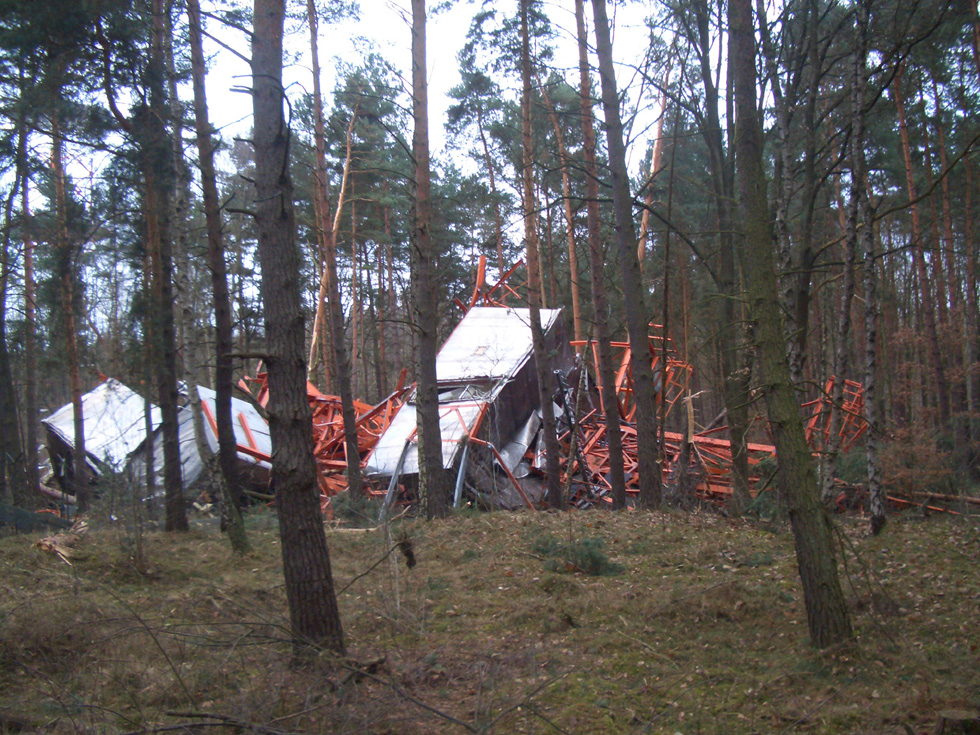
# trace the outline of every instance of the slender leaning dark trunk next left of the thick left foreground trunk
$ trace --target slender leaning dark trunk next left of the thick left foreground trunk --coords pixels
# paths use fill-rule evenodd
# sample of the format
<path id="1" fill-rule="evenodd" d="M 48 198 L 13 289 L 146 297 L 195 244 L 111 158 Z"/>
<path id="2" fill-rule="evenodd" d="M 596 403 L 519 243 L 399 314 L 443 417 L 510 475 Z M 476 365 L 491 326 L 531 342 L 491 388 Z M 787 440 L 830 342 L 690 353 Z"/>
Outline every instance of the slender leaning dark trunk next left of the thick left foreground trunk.
<path id="1" fill-rule="evenodd" d="M 234 379 L 234 350 L 231 298 L 222 242 L 221 205 L 214 171 L 214 143 L 205 89 L 204 48 L 201 39 L 200 0 L 187 0 L 187 20 L 191 42 L 191 76 L 194 84 L 194 123 L 197 131 L 197 154 L 201 168 L 204 196 L 204 221 L 208 237 L 208 266 L 211 271 L 211 293 L 214 299 L 214 412 L 218 433 L 218 464 L 221 467 L 222 493 L 229 518 L 228 540 L 237 554 L 248 552 L 248 537 L 242 518 L 244 494 L 238 476 L 238 441 L 232 424 L 231 393 Z"/>

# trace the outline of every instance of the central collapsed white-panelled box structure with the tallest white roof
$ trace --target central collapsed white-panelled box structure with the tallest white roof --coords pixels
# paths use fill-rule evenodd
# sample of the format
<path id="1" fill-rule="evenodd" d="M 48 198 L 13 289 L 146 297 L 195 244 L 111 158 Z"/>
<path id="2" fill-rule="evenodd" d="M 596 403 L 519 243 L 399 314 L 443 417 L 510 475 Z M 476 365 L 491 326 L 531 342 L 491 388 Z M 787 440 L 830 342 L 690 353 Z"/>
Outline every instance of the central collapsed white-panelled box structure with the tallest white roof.
<path id="1" fill-rule="evenodd" d="M 545 349 L 567 371 L 571 350 L 561 310 L 542 309 Z M 530 311 L 474 307 L 436 358 L 442 463 L 455 469 L 455 501 L 465 492 L 481 504 L 534 507 L 543 485 L 541 415 Z M 557 387 L 557 386 L 556 386 Z M 560 411 L 556 411 L 560 413 Z M 402 482 L 411 493 L 419 471 L 414 396 L 402 406 L 367 458 L 370 479 Z"/>

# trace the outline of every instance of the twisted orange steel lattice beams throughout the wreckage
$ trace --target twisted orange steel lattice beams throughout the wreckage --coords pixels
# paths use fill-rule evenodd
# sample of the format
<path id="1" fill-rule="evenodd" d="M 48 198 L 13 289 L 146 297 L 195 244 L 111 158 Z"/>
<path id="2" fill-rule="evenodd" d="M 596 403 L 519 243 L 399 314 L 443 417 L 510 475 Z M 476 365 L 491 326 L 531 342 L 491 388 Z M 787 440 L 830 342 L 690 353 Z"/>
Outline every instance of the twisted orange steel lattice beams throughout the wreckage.
<path id="1" fill-rule="evenodd" d="M 517 282 L 517 274 L 523 261 L 519 261 L 504 273 L 500 280 L 488 286 L 486 283 L 486 258 L 481 256 L 476 274 L 476 285 L 468 302 L 459 298 L 454 302 L 463 312 L 468 312 L 474 306 L 521 306 L 526 304 L 524 293 L 527 291 L 526 279 Z M 512 283 L 511 281 L 515 281 Z M 510 303 L 508 303 L 510 302 Z M 690 401 L 688 385 L 693 374 L 693 366 L 679 358 L 674 342 L 664 328 L 658 324 L 650 324 L 648 348 L 650 365 L 657 382 L 658 414 L 663 418 L 671 415 L 674 406 L 682 399 Z M 575 348 L 591 348 L 591 368 L 595 385 L 599 385 L 598 345 L 594 340 L 573 341 Z M 631 368 L 631 349 L 628 342 L 613 342 L 615 386 L 617 406 L 622 432 L 623 459 L 626 475 L 626 491 L 629 495 L 639 493 L 637 476 L 637 434 L 634 425 L 636 405 L 633 395 L 633 376 Z M 358 461 L 364 466 L 364 461 L 378 443 L 381 434 L 391 424 L 392 419 L 405 401 L 411 387 L 403 385 L 406 371 L 402 371 L 398 388 L 388 398 L 376 406 L 355 401 L 354 409 L 357 414 L 357 444 Z M 256 400 L 263 406 L 268 401 L 268 380 L 265 373 L 260 373 L 249 382 L 258 386 Z M 819 452 L 828 443 L 830 437 L 830 405 L 833 395 L 834 378 L 830 378 L 824 386 L 823 395 L 809 403 L 804 408 L 809 410 L 810 418 L 806 425 L 806 438 L 810 448 Z M 247 391 L 244 383 L 241 384 Z M 340 398 L 321 393 L 311 383 L 307 383 L 307 396 L 313 410 L 313 439 L 314 453 L 318 467 L 318 482 L 321 493 L 321 506 L 330 513 L 330 498 L 338 492 L 347 489 L 347 448 L 344 438 L 343 416 Z M 567 396 L 566 396 L 567 398 Z M 462 404 L 460 404 L 462 405 Z M 582 416 L 575 417 L 574 428 L 566 425 L 564 433 L 559 437 L 562 446 L 560 464 L 564 481 L 568 482 L 570 491 L 569 501 L 576 507 L 589 507 L 609 500 L 610 459 L 609 446 L 606 437 L 606 422 L 603 411 L 601 391 L 599 391 L 599 408 L 590 409 Z M 526 505 L 534 507 L 521 487 L 520 482 L 506 469 L 506 463 L 499 456 L 496 448 L 477 438 L 486 414 L 487 405 L 482 404 L 478 417 L 472 427 L 459 412 L 459 405 L 447 407 L 441 412 L 440 418 L 446 418 L 448 411 L 455 411 L 462 425 L 461 439 L 453 441 L 473 442 L 486 446 L 497 456 L 499 466 L 504 469 L 518 494 Z M 661 413 L 662 411 L 662 413 Z M 724 500 L 732 493 L 732 447 L 731 443 L 722 438 L 727 434 L 727 427 L 721 426 L 708 431 L 695 432 L 693 413 L 688 414 L 687 433 L 672 431 L 663 432 L 663 477 L 665 484 L 676 482 L 683 475 L 689 480 L 694 494 L 705 500 Z M 210 417 L 209 417 L 210 418 Z M 567 424 L 567 422 L 566 422 Z M 847 380 L 844 383 L 844 399 L 840 411 L 840 428 L 838 430 L 839 448 L 845 452 L 867 430 L 864 419 L 864 388 L 860 383 Z M 577 447 L 571 450 L 572 432 L 577 432 Z M 247 427 L 246 427 L 247 434 Z M 410 437 L 411 438 L 411 437 Z M 444 440 L 445 441 L 445 440 Z M 249 442 L 253 444 L 253 442 Z M 257 452 L 254 446 L 239 446 L 239 451 L 252 454 L 259 459 L 271 461 L 271 457 Z M 529 448 L 527 459 L 534 466 L 533 448 Z M 752 493 L 759 492 L 764 487 L 761 477 L 760 463 L 775 457 L 775 447 L 771 444 L 748 443 L 747 459 L 749 465 L 749 482 Z M 366 486 L 367 487 L 367 486 Z M 369 494 L 383 494 L 383 490 L 367 487 Z"/>

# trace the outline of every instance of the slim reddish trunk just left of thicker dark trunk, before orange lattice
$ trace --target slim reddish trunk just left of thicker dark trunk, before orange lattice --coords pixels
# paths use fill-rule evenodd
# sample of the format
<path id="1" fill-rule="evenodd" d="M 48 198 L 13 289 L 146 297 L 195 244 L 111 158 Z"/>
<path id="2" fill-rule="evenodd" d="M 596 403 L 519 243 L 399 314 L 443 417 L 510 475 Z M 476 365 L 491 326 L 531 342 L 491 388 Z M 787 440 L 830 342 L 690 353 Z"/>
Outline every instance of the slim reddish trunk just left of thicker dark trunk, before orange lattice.
<path id="1" fill-rule="evenodd" d="M 575 0 L 575 29 L 578 37 L 579 102 L 582 108 L 582 149 L 585 154 L 585 212 L 589 232 L 589 267 L 592 272 L 592 305 L 595 312 L 593 334 L 602 406 L 609 443 L 609 485 L 613 509 L 626 505 L 626 477 L 623 463 L 623 435 L 619 423 L 612 346 L 609 339 L 609 301 L 606 298 L 605 253 L 602 246 L 599 214 L 599 167 L 595 156 L 595 128 L 592 118 L 592 80 L 589 76 L 588 37 L 585 32 L 585 2 Z"/>

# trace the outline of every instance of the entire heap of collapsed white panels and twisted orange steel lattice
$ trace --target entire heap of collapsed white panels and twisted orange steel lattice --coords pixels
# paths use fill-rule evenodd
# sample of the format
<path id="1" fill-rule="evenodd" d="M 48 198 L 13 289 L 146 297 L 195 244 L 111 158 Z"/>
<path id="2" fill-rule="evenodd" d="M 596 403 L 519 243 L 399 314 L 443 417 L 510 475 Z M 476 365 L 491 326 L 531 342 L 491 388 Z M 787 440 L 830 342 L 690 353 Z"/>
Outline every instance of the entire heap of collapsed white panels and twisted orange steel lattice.
<path id="1" fill-rule="evenodd" d="M 456 299 L 464 311 L 462 320 L 446 340 L 436 360 L 439 423 L 443 466 L 454 478 L 454 504 L 471 502 L 480 507 L 536 508 L 543 504 L 544 441 L 541 407 L 532 346 L 530 312 L 521 306 L 526 284 L 511 281 L 520 263 L 493 286 L 483 281 L 481 262 L 473 295 L 468 303 Z M 627 494 L 639 492 L 637 442 L 656 441 L 638 437 L 634 423 L 631 351 L 626 342 L 613 343 L 617 405 L 602 404 L 596 345 L 592 341 L 569 343 L 560 309 L 541 310 L 545 349 L 551 360 L 561 456 L 562 486 L 568 501 L 579 508 L 610 500 L 610 466 L 605 411 L 620 417 Z M 573 348 L 580 353 L 576 357 Z M 726 427 L 697 431 L 688 390 L 693 367 L 682 360 L 670 336 L 650 325 L 649 359 L 657 381 L 658 414 L 674 430 L 662 433 L 665 485 L 683 488 L 690 498 L 724 502 L 732 493 L 732 451 Z M 414 390 L 404 383 L 376 405 L 355 401 L 358 456 L 347 456 L 340 398 L 325 395 L 307 384 L 312 409 L 314 454 L 318 467 L 321 507 L 331 512 L 331 498 L 347 489 L 348 461 L 357 461 L 366 478 L 365 492 L 384 497 L 386 504 L 412 502 L 418 493 L 417 407 Z M 807 439 L 818 452 L 829 437 L 830 396 L 833 379 L 810 411 Z M 273 448 L 269 428 L 260 411 L 268 402 L 265 373 L 239 383 L 249 400 L 233 399 L 233 418 L 238 457 L 246 482 L 262 495 L 267 492 Z M 214 392 L 198 387 L 201 424 L 207 451 L 217 451 Z M 845 384 L 840 407 L 838 444 L 846 451 L 865 431 L 863 389 Z M 681 403 L 685 412 L 676 412 Z M 149 414 L 147 414 L 149 412 Z M 147 458 L 152 446 L 154 475 L 162 477 L 163 451 L 160 413 L 152 404 L 109 379 L 83 398 L 86 451 L 95 476 L 123 473 L 128 482 L 145 487 Z M 680 413 L 680 415 L 675 415 Z M 184 406 L 179 413 L 183 484 L 189 496 L 202 477 L 205 462 L 198 450 L 194 412 Z M 55 475 L 61 491 L 71 487 L 71 455 L 74 430 L 71 405 L 44 421 Z M 151 441 L 147 441 L 147 425 Z M 756 432 L 765 434 L 763 428 Z M 575 438 L 573 442 L 572 439 Z M 574 448 L 573 448 L 574 447 Z M 748 461 L 752 492 L 762 489 L 760 464 L 775 456 L 770 443 L 750 443 Z M 59 494 L 61 491 L 51 492 Z M 162 493 L 162 491 L 158 491 Z"/>

